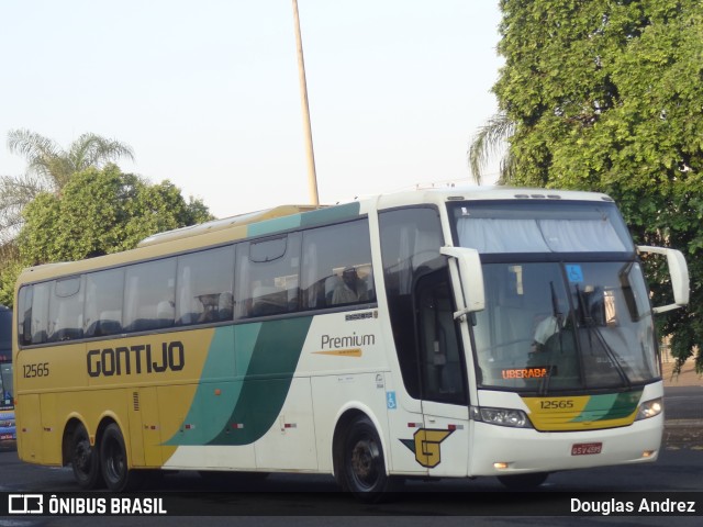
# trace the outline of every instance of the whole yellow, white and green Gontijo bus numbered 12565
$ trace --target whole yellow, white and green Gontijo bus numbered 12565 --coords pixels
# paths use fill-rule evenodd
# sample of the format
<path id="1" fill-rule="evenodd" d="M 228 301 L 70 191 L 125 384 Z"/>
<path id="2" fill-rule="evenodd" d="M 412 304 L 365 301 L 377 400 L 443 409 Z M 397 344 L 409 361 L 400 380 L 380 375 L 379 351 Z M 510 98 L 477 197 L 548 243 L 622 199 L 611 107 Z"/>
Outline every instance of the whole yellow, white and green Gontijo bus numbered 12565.
<path id="1" fill-rule="evenodd" d="M 672 304 L 651 307 L 643 251 Z M 688 288 L 681 254 L 635 247 L 599 193 L 419 190 L 158 234 L 20 276 L 19 456 L 83 489 L 325 473 L 368 500 L 651 462 L 652 313 Z"/>

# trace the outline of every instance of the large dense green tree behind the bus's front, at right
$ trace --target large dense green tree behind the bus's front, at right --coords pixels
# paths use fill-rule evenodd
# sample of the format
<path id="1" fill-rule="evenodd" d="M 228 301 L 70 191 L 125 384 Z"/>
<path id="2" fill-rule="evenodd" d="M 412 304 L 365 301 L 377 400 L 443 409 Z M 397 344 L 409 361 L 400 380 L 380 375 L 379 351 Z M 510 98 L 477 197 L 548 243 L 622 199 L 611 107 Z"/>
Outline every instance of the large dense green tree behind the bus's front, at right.
<path id="1" fill-rule="evenodd" d="M 690 306 L 660 319 L 680 368 L 703 349 L 703 9 L 698 0 L 500 7 L 505 65 L 493 91 L 514 123 L 513 182 L 607 192 L 637 243 L 687 254 Z M 662 272 L 652 272 L 657 292 Z"/>

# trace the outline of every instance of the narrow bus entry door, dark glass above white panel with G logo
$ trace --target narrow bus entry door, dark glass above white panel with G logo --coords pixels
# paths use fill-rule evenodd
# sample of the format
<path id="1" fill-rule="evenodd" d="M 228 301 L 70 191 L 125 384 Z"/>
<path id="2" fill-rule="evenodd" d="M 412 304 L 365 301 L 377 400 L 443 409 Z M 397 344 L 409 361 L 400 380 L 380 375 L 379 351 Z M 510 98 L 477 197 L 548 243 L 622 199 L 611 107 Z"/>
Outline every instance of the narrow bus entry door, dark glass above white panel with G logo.
<path id="1" fill-rule="evenodd" d="M 447 269 L 426 274 L 415 288 L 422 429 L 415 433 L 416 460 L 431 475 L 466 476 L 469 403 L 466 360 Z"/>

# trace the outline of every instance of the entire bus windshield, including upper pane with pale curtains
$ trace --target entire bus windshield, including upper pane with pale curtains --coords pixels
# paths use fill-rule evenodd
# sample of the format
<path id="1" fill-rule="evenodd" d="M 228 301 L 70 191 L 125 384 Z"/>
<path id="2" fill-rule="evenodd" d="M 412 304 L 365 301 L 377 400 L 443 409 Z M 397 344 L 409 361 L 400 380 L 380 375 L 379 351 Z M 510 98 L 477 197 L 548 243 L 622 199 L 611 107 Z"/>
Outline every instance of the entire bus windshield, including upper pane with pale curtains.
<path id="1" fill-rule="evenodd" d="M 546 394 L 660 375 L 643 271 L 614 206 L 482 205 L 455 209 L 459 243 L 483 261 L 479 386 Z"/>

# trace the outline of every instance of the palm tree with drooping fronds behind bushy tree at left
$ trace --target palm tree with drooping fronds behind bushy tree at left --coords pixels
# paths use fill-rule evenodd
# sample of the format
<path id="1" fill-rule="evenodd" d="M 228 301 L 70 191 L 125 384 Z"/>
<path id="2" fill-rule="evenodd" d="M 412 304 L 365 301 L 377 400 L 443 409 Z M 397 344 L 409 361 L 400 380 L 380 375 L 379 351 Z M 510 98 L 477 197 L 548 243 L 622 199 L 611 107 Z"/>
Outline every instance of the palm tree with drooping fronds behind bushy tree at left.
<path id="1" fill-rule="evenodd" d="M 129 145 L 97 134 L 82 134 L 68 150 L 29 130 L 11 130 L 8 148 L 26 159 L 22 176 L 0 178 L 0 243 L 12 239 L 22 225 L 22 209 L 40 192 L 60 192 L 76 172 L 126 157 L 134 160 Z"/>

